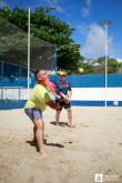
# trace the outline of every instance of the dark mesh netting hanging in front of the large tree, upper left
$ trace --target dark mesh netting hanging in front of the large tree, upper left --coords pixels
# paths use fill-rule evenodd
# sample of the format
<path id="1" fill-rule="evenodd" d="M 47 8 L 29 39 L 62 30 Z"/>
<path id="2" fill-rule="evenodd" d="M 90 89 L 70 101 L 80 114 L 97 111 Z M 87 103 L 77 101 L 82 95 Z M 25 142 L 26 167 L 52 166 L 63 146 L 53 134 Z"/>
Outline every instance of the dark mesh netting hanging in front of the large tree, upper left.
<path id="1" fill-rule="evenodd" d="M 30 49 L 30 74 L 35 70 L 57 70 L 55 45 L 30 34 L 0 17 L 0 79 L 26 78 Z M 30 48 L 29 48 L 30 47 Z"/>

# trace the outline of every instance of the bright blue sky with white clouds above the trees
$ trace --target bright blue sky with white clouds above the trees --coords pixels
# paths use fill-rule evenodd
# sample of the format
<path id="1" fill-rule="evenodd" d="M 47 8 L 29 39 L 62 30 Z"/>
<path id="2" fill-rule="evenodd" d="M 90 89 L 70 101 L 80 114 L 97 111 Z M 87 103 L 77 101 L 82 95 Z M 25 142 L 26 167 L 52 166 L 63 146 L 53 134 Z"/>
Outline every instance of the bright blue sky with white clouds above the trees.
<path id="1" fill-rule="evenodd" d="M 122 61 L 122 0 L 1 0 L 0 6 L 26 8 L 51 6 L 60 18 L 74 29 L 72 39 L 80 44 L 81 55 L 98 58 L 105 54 L 104 20 L 108 27 L 108 55 Z"/>

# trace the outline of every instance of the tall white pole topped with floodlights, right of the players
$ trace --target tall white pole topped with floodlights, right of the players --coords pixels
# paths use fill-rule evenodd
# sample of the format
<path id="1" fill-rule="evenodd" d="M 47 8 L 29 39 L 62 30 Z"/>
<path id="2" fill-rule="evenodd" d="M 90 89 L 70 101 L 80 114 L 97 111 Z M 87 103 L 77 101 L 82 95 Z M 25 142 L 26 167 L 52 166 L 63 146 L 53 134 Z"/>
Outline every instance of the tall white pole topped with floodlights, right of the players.
<path id="1" fill-rule="evenodd" d="M 108 89 L 108 28 L 109 26 L 111 26 L 111 21 L 110 20 L 104 20 L 101 22 L 101 26 L 104 28 L 104 55 L 105 55 L 105 79 L 104 79 L 104 89 L 105 89 L 105 106 L 108 106 L 108 102 L 106 102 L 106 89 Z"/>

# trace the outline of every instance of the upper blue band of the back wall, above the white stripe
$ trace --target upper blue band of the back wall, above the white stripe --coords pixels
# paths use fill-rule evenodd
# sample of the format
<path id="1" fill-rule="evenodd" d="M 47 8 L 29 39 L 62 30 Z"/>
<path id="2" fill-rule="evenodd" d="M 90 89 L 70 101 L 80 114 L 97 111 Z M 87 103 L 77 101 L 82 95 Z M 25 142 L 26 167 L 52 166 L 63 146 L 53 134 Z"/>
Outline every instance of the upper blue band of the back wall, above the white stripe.
<path id="1" fill-rule="evenodd" d="M 58 82 L 58 75 L 50 77 L 52 82 Z M 72 88 L 103 88 L 104 75 L 103 74 L 85 74 L 85 75 L 68 75 L 68 81 Z M 30 88 L 35 84 L 34 78 L 31 78 Z M 27 78 L 16 79 L 2 79 L 0 80 L 0 87 L 23 87 L 27 88 Z M 122 87 L 122 74 L 108 74 L 108 87 Z"/>

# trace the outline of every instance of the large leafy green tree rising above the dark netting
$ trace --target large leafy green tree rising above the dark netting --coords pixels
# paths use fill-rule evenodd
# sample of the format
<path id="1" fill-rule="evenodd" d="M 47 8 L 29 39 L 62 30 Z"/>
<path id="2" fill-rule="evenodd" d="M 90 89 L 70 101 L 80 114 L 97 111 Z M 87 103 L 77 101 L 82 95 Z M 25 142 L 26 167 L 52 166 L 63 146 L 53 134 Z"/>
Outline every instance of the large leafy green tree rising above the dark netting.
<path id="1" fill-rule="evenodd" d="M 57 44 L 58 69 L 74 72 L 79 69 L 80 45 L 71 39 L 73 29 L 60 19 L 50 16 L 50 11 L 52 10 L 55 9 L 44 7 L 37 8 L 34 12 L 31 11 L 31 34 L 52 44 Z M 0 10 L 0 17 L 6 18 L 23 31 L 28 31 L 27 10 L 3 8 Z"/>

